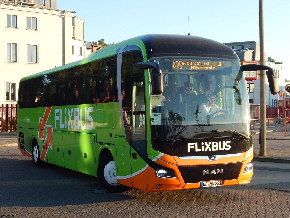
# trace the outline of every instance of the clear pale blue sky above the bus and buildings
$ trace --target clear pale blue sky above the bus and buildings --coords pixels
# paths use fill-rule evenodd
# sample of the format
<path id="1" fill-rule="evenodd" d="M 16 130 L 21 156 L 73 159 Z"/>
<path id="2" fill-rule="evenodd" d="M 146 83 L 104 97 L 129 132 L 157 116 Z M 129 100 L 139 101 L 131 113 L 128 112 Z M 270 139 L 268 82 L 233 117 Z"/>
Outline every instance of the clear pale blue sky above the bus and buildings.
<path id="1" fill-rule="evenodd" d="M 290 68 L 290 1 L 264 0 L 264 49 Z M 259 0 L 57 0 L 85 20 L 85 40 L 117 43 L 151 33 L 188 34 L 218 42 L 259 40 Z"/>

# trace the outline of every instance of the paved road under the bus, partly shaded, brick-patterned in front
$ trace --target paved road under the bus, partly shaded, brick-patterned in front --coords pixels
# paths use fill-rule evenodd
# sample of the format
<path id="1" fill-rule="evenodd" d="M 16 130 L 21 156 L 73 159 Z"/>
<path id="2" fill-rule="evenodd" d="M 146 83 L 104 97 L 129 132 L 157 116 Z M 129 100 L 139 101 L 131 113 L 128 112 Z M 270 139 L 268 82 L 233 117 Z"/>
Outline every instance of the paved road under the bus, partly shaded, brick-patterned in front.
<path id="1" fill-rule="evenodd" d="M 0 215 L 14 217 L 290 217 L 290 164 L 254 162 L 249 185 L 111 194 L 98 179 L 35 167 L 17 146 L 0 147 Z"/>

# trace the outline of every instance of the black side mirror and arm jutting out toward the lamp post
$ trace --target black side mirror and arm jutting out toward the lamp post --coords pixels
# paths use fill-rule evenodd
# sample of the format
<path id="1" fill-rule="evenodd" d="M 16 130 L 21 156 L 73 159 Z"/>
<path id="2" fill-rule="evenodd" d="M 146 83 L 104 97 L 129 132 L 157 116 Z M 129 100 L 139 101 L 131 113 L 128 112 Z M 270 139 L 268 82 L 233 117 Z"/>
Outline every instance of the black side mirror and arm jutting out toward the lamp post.
<path id="1" fill-rule="evenodd" d="M 272 95 L 276 95 L 279 92 L 278 75 L 273 71 L 271 67 L 256 64 L 242 65 L 243 71 L 257 71 L 267 70 L 266 75 L 269 81 L 269 87 Z"/>

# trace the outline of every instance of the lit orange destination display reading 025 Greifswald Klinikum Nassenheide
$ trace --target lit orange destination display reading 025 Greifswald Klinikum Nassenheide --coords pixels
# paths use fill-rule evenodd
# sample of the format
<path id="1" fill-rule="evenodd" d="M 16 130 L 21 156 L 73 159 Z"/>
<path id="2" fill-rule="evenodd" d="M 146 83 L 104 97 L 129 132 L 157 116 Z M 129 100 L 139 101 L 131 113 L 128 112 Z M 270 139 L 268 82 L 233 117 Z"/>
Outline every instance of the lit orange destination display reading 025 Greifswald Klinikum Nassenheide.
<path id="1" fill-rule="evenodd" d="M 221 70 L 223 61 L 172 59 L 173 70 Z"/>

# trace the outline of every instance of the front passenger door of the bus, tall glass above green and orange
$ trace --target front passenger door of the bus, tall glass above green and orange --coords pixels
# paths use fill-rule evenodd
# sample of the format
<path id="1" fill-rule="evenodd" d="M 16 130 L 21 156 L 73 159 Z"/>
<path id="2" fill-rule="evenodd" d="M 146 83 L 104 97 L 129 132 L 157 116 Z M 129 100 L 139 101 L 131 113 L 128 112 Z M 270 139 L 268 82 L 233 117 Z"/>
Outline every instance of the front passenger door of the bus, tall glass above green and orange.
<path id="1" fill-rule="evenodd" d="M 147 158 L 144 95 L 146 85 L 144 84 L 144 70 L 137 66 L 138 62 L 143 61 L 143 54 L 139 47 L 130 45 L 120 48 L 117 57 L 119 102 L 122 99 L 122 105 L 119 104 L 119 116 L 121 115 L 122 134 L 124 134 L 122 140 L 127 141 L 126 151 L 130 151 L 130 156 L 127 158 L 131 160 L 132 185 L 146 190 L 148 185 L 148 165 L 145 161 Z M 125 144 L 122 148 L 120 146 L 120 149 L 125 149 Z M 123 152 L 117 153 L 120 156 Z"/>

